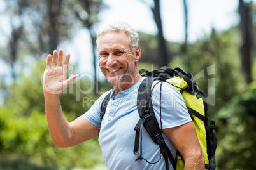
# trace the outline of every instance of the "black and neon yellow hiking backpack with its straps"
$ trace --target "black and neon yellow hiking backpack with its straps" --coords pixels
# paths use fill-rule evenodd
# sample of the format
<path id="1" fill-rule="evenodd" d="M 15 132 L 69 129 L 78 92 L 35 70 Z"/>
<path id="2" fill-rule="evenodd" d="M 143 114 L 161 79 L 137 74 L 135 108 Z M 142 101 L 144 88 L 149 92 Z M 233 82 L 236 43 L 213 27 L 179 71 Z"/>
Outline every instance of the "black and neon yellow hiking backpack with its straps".
<path id="1" fill-rule="evenodd" d="M 169 169 L 168 159 L 171 161 L 173 169 L 184 169 L 184 160 L 180 152 L 177 150 L 176 156 L 173 157 L 171 151 L 164 142 L 164 138 L 162 137 L 162 130 L 159 128 L 159 124 L 153 111 L 151 100 L 152 84 L 153 81 L 160 80 L 159 82 L 169 82 L 176 89 L 178 89 L 178 91 L 180 91 L 188 108 L 188 113 L 190 114 L 192 122 L 196 128 L 199 143 L 205 158 L 205 169 L 215 169 L 215 150 L 217 148 L 215 121 L 212 121 L 207 117 L 206 98 L 204 93 L 199 91 L 199 88 L 194 81 L 193 75 L 184 72 L 180 68 L 172 69 L 166 66 L 157 70 L 153 70 L 152 72 L 141 69 L 139 74 L 147 78 L 141 82 L 141 85 L 138 89 L 137 108 L 139 117 L 141 119 L 139 119 L 134 128 L 136 131 L 134 141 L 134 154 L 140 155 L 136 160 L 144 159 L 141 155 L 142 151 L 140 150 L 139 152 L 139 138 L 141 132 L 140 129 L 143 125 L 152 140 L 159 145 L 160 152 L 165 160 L 166 169 Z M 103 103 L 101 104 L 101 121 L 106 112 L 106 106 L 108 105 L 109 100 L 110 93 L 106 95 Z"/>

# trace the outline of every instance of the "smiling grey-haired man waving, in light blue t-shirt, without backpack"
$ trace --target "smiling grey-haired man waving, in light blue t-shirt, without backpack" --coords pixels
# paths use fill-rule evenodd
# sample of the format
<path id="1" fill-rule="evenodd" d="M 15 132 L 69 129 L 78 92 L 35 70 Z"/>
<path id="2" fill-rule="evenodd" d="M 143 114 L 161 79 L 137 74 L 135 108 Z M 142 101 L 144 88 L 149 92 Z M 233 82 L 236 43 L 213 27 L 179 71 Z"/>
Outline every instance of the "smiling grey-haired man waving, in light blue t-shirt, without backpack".
<path id="1" fill-rule="evenodd" d="M 104 96 L 109 92 L 101 95 L 85 114 L 73 122 L 66 121 L 62 114 L 59 95 L 77 75 L 69 79 L 65 77 L 69 53 L 63 65 L 62 49 L 59 50 L 58 60 L 58 51 L 53 51 L 53 56 L 47 57 L 43 89 L 46 117 L 53 142 L 57 147 L 71 147 L 97 136 L 98 128 L 101 126 L 99 144 L 108 169 L 165 169 L 159 145 L 153 143 L 144 128 L 140 147 L 145 160 L 135 161 L 138 155 L 133 154 L 134 126 L 139 120 L 136 99 L 139 84 L 145 79 L 139 75 L 137 69 L 141 57 L 138 34 L 127 23 L 115 22 L 98 30 L 96 42 L 101 72 L 113 85 L 111 99 L 101 125 L 100 107 Z M 161 101 L 170 98 L 174 100 L 171 105 L 161 105 L 160 110 L 160 84 L 152 89 L 153 109 L 164 132 L 164 140 L 173 154 L 178 149 L 183 155 L 185 169 L 204 169 L 204 156 L 185 101 L 173 86 L 164 83 L 161 89 Z M 172 169 L 171 163 L 169 168 Z"/>

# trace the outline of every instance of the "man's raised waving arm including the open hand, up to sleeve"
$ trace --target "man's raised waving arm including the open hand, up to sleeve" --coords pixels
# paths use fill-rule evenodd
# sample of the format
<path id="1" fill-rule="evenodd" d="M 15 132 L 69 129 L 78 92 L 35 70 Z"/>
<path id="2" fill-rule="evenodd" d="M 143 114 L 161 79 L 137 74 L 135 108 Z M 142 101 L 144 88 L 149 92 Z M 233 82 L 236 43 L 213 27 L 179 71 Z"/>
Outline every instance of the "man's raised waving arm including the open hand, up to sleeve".
<path id="1" fill-rule="evenodd" d="M 69 123 L 60 106 L 59 95 L 74 81 L 77 75 L 66 79 L 70 55 L 67 54 L 62 65 L 63 50 L 53 51 L 47 56 L 46 69 L 43 75 L 43 91 L 45 95 L 45 111 L 48 127 L 52 140 L 57 147 L 71 147 L 83 141 L 97 136 L 97 127 L 86 121 L 83 117 L 78 117 Z M 52 58 L 52 63 L 51 63 Z"/>

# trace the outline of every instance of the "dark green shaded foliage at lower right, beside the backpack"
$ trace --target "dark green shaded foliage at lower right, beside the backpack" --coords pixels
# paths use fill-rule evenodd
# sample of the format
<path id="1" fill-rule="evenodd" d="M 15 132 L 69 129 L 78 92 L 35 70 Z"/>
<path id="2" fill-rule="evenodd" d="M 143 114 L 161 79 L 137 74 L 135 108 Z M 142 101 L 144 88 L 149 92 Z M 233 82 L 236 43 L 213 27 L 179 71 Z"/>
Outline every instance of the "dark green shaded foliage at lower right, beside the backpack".
<path id="1" fill-rule="evenodd" d="M 220 169 L 256 168 L 256 84 L 229 101 L 216 113 L 217 163 Z"/>

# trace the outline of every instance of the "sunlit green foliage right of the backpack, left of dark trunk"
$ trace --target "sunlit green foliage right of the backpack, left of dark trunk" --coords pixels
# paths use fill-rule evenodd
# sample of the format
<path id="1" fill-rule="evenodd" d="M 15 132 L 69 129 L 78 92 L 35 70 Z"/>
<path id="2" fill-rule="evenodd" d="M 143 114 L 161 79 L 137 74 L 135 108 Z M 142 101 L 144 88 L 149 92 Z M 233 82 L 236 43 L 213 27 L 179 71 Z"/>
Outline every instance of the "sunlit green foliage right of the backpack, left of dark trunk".
<path id="1" fill-rule="evenodd" d="M 245 88 L 238 42 L 236 28 L 225 32 L 213 30 L 210 36 L 190 44 L 186 53 L 176 56 L 169 64 L 191 72 L 206 97 L 215 96 L 213 107 L 209 107 L 210 113 Z"/>

